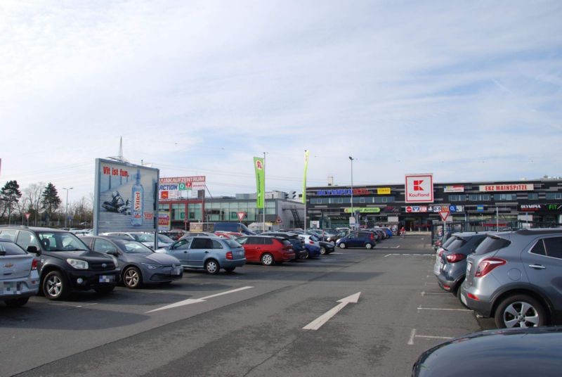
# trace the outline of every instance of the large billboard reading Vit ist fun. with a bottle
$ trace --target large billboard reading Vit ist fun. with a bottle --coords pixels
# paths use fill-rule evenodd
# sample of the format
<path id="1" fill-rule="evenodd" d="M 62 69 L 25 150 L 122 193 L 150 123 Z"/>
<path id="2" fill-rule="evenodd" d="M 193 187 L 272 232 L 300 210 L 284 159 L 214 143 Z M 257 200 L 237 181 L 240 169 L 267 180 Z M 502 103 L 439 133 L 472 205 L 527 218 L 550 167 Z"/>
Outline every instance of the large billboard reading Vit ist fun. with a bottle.
<path id="1" fill-rule="evenodd" d="M 94 234 L 105 231 L 155 231 L 159 170 L 96 158 Z"/>

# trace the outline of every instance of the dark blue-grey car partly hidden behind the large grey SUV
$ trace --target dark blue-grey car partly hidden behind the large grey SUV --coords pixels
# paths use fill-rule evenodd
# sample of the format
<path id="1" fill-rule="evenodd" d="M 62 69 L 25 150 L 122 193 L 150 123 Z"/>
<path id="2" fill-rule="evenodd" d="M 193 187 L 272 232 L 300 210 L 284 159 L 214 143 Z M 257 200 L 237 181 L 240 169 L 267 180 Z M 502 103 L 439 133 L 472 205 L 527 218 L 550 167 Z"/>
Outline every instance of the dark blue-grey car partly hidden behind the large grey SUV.
<path id="1" fill-rule="evenodd" d="M 486 238 L 485 233 L 457 233 L 452 242 L 444 249 L 437 281 L 439 286 L 447 292 L 457 296 L 460 300 L 459 289 L 466 274 L 466 257 L 476 250 L 476 247 Z"/>

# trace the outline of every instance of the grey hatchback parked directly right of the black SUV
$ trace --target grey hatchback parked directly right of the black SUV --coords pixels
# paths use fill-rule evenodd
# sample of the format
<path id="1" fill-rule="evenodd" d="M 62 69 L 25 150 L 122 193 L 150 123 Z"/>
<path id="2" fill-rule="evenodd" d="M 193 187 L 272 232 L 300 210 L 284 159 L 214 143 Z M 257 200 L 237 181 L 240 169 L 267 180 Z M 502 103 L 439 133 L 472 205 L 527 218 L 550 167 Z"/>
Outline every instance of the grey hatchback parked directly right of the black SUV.
<path id="1" fill-rule="evenodd" d="M 117 257 L 121 280 L 127 288 L 170 283 L 183 276 L 183 268 L 176 257 L 155 253 L 138 241 L 115 236 L 83 236 L 81 240 L 93 251 Z"/>

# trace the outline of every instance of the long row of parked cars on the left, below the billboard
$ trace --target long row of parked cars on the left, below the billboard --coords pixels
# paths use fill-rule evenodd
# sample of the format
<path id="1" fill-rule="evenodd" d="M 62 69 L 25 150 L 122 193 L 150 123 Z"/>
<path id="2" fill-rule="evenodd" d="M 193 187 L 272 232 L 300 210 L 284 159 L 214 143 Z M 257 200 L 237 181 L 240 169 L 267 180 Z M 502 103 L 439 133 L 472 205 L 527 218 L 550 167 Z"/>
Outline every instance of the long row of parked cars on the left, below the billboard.
<path id="1" fill-rule="evenodd" d="M 158 240 L 164 247 L 153 250 L 154 234 L 77 236 L 62 229 L 1 227 L 0 300 L 17 307 L 37 293 L 51 300 L 66 298 L 73 290 L 110 293 L 119 282 L 128 288 L 171 283 L 188 268 L 218 274 L 247 262 L 269 266 L 334 251 L 333 243 L 289 232 L 197 232 L 185 233 L 177 241 L 158 235 Z"/>

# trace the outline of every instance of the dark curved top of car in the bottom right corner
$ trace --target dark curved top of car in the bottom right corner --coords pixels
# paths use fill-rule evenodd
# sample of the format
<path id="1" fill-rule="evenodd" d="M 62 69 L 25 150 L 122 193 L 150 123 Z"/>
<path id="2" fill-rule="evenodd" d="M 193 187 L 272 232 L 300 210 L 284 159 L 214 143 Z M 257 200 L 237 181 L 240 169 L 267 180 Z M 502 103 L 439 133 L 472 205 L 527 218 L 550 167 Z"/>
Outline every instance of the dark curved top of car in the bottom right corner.
<path id="1" fill-rule="evenodd" d="M 562 328 L 511 328 L 471 333 L 422 353 L 412 377 L 560 376 Z"/>

